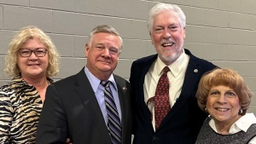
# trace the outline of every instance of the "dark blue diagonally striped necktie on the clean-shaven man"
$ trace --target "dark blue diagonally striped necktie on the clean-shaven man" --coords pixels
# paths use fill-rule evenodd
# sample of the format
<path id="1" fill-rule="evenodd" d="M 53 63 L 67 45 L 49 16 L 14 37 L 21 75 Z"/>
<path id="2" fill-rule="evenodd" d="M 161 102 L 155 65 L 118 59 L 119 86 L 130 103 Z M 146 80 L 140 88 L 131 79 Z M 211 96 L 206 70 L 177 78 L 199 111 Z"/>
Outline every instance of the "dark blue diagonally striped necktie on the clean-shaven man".
<path id="1" fill-rule="evenodd" d="M 105 87 L 104 96 L 108 115 L 108 132 L 113 144 L 120 144 L 122 137 L 122 126 L 120 123 L 119 112 L 117 111 L 116 105 L 113 101 L 113 95 L 109 85 L 110 81 L 101 82 L 102 86 Z"/>

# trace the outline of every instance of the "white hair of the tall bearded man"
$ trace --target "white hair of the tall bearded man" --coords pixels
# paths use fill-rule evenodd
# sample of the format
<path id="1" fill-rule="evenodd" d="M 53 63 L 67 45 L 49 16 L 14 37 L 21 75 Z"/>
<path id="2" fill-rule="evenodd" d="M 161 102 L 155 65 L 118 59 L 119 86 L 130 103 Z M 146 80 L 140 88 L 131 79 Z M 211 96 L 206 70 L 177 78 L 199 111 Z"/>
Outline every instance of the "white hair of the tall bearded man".
<path id="1" fill-rule="evenodd" d="M 148 13 L 148 32 L 152 32 L 154 17 L 160 12 L 169 10 L 177 17 L 177 20 L 181 27 L 186 27 L 186 15 L 183 13 L 183 10 L 180 9 L 176 4 L 171 3 L 157 3 Z"/>

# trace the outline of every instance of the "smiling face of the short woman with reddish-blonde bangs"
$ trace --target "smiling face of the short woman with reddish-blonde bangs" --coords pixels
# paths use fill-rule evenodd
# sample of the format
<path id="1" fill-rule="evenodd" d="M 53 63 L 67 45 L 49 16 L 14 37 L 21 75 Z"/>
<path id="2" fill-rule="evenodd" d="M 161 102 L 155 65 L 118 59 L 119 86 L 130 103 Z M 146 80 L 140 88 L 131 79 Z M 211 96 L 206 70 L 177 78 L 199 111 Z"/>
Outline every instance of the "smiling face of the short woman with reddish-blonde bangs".
<path id="1" fill-rule="evenodd" d="M 215 122 L 233 124 L 241 115 L 239 98 L 234 89 L 218 85 L 210 89 L 207 97 L 207 111 Z"/>

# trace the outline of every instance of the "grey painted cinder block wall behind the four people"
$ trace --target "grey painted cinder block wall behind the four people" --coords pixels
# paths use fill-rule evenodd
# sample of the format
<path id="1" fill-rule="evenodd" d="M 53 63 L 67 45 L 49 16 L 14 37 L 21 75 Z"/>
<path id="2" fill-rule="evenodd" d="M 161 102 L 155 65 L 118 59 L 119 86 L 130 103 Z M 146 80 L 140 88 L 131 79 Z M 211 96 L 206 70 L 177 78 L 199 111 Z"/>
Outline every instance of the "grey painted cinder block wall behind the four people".
<path id="1" fill-rule="evenodd" d="M 133 60 L 155 54 L 146 20 L 157 2 L 176 3 L 183 9 L 187 49 L 220 67 L 235 69 L 256 93 L 255 0 L 1 0 L 0 84 L 10 79 L 3 72 L 9 42 L 29 25 L 48 33 L 61 53 L 61 72 L 55 80 L 84 66 L 84 43 L 94 26 L 115 27 L 124 39 L 115 73 L 128 79 Z M 256 114 L 256 95 L 249 112 Z"/>

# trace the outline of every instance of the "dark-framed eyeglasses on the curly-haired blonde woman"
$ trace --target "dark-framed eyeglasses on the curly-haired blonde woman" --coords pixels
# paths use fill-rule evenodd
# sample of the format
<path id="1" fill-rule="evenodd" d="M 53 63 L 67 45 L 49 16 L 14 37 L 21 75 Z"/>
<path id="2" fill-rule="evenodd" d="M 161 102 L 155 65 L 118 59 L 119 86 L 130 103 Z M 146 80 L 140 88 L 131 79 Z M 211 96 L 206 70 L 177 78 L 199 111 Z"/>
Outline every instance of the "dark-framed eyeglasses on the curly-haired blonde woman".
<path id="1" fill-rule="evenodd" d="M 19 53 L 21 57 L 29 57 L 32 55 L 32 52 L 37 56 L 37 57 L 44 57 L 46 55 L 47 49 L 45 48 L 38 48 L 38 49 L 27 49 L 27 48 L 21 48 L 19 49 Z"/>

